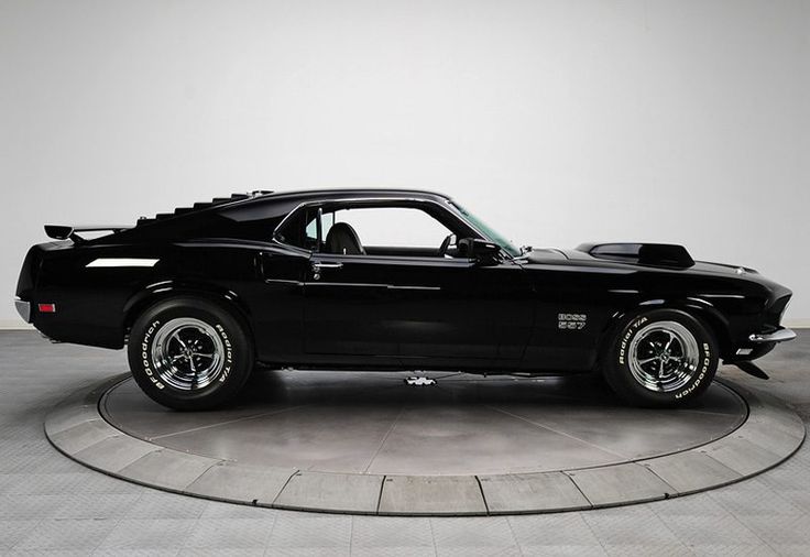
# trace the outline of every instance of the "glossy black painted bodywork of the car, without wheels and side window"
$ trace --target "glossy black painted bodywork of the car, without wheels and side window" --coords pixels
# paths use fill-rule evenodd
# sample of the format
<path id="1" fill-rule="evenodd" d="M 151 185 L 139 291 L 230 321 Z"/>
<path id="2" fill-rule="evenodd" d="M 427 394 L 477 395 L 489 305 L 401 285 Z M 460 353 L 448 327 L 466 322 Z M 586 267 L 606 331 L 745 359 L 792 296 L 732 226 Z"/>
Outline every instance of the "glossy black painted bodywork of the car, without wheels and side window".
<path id="1" fill-rule="evenodd" d="M 460 238 L 492 240 L 430 192 L 240 196 L 95 240 L 74 232 L 73 240 L 34 245 L 17 295 L 32 304 L 37 329 L 66 342 L 121 348 L 140 312 L 193 294 L 231 307 L 250 330 L 258 360 L 267 364 L 486 372 L 593 369 L 619 320 L 652 307 L 681 308 L 702 319 L 726 362 L 754 359 L 774 343 L 754 345 L 748 336 L 778 330 L 791 295 L 752 270 L 705 262 L 667 266 L 650 263 L 649 255 L 603 259 L 587 248 L 518 258 L 504 252 L 497 261 L 473 254 L 338 255 L 311 253 L 274 234 L 296 209 L 348 199 L 419 207 Z M 157 261 L 88 266 L 107 258 Z M 317 280 L 313 263 L 325 264 Z M 40 313 L 40 303 L 54 303 L 57 312 Z M 585 315 L 587 324 L 560 328 L 559 314 Z M 737 356 L 741 348 L 752 352 Z"/>

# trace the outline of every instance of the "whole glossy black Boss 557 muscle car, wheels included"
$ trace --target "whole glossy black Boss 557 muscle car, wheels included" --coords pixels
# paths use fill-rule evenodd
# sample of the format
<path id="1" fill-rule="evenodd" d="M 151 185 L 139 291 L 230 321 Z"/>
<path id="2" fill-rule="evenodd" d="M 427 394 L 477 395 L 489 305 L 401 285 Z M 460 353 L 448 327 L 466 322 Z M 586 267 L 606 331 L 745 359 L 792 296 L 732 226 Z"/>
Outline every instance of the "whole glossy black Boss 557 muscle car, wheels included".
<path id="1" fill-rule="evenodd" d="M 45 231 L 57 241 L 25 258 L 22 317 L 57 341 L 125 345 L 139 385 L 178 409 L 228 402 L 255 363 L 599 370 L 632 404 L 674 405 L 721 359 L 763 375 L 751 361 L 795 337 L 790 291 L 754 270 L 670 244 L 517 249 L 430 192 L 256 192 Z"/>

